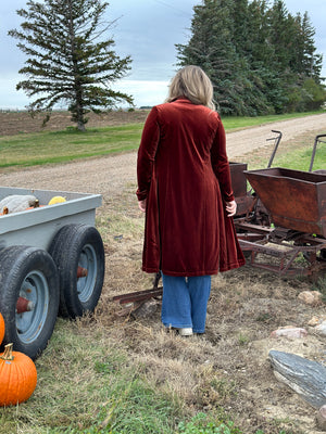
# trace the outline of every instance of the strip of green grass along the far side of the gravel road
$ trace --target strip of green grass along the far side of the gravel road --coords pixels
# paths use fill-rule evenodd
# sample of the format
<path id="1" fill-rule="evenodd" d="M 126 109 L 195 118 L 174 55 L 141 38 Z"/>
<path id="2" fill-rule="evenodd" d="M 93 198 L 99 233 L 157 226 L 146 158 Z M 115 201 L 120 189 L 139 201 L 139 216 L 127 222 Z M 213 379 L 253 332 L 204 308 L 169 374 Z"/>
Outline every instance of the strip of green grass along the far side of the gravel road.
<path id="1" fill-rule="evenodd" d="M 225 117 L 223 124 L 227 131 L 231 131 L 308 114 L 313 113 Z M 0 137 L 0 167 L 64 163 L 136 150 L 139 145 L 142 127 L 143 124 L 129 124 L 89 128 L 86 132 L 67 128 L 63 131 Z"/>

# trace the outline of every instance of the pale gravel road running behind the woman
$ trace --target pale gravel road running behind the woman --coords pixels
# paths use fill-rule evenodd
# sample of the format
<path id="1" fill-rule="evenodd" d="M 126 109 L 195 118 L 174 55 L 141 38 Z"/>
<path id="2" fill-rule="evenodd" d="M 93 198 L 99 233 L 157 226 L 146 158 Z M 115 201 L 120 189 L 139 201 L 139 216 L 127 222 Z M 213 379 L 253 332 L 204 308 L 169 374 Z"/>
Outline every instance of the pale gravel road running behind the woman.
<path id="1" fill-rule="evenodd" d="M 326 113 L 227 133 L 229 159 L 266 145 L 266 139 L 283 132 L 283 144 L 308 131 L 326 133 Z M 136 183 L 137 153 L 106 156 L 62 165 L 49 165 L 0 174 L 0 186 L 30 189 L 101 193 L 105 197 L 120 194 L 126 184 Z"/>

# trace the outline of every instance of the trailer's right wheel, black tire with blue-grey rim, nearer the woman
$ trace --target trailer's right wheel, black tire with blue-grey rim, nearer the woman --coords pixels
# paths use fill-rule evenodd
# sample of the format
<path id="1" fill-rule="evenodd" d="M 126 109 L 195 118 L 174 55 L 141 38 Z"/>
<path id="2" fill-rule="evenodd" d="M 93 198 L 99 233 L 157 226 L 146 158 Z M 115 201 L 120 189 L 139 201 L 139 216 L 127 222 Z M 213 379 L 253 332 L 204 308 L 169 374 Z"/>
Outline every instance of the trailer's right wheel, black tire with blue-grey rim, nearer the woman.
<path id="1" fill-rule="evenodd" d="M 49 253 L 59 271 L 59 314 L 74 319 L 92 312 L 102 293 L 105 270 L 104 246 L 98 230 L 88 225 L 66 225 L 55 234 Z M 79 282 L 78 265 L 88 269 L 88 276 Z"/>

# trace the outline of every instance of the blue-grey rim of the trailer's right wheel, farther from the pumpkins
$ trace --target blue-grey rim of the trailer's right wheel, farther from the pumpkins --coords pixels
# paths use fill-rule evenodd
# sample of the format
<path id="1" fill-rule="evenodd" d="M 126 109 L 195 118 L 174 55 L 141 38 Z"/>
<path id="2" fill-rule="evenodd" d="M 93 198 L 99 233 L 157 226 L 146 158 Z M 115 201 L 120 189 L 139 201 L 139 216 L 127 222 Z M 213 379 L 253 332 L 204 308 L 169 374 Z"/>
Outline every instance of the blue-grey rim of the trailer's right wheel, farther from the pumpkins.
<path id="1" fill-rule="evenodd" d="M 86 244 L 79 256 L 78 266 L 87 270 L 86 277 L 77 279 L 77 294 L 80 303 L 86 303 L 92 292 L 97 281 L 97 254 L 92 245 Z"/>

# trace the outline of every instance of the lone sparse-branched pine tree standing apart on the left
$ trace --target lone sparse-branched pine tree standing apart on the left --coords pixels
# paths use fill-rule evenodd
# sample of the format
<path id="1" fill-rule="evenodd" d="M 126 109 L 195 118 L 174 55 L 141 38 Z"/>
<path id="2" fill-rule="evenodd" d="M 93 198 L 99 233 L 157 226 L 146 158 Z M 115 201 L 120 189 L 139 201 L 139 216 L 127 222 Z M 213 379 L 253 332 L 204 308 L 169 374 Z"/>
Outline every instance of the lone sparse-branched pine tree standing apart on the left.
<path id="1" fill-rule="evenodd" d="M 114 91 L 111 85 L 130 69 L 130 56 L 121 59 L 112 38 L 105 34 L 113 24 L 102 22 L 109 3 L 101 0 L 27 1 L 17 14 L 21 29 L 9 35 L 27 54 L 17 84 L 28 97 L 38 98 L 28 105 L 32 113 L 47 112 L 59 102 L 68 104 L 72 120 L 85 130 L 86 113 L 112 108 L 116 101 L 133 103 L 133 98 Z"/>

